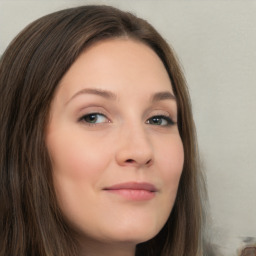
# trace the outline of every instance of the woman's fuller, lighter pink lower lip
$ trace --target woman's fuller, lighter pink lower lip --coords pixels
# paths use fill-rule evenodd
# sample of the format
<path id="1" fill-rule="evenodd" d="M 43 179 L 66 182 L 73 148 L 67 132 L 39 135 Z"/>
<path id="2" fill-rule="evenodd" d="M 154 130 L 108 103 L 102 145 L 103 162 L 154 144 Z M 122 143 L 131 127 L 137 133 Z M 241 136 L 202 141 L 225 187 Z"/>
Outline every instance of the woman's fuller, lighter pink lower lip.
<path id="1" fill-rule="evenodd" d="M 106 191 L 134 201 L 146 201 L 155 197 L 155 192 L 142 189 L 110 189 Z"/>

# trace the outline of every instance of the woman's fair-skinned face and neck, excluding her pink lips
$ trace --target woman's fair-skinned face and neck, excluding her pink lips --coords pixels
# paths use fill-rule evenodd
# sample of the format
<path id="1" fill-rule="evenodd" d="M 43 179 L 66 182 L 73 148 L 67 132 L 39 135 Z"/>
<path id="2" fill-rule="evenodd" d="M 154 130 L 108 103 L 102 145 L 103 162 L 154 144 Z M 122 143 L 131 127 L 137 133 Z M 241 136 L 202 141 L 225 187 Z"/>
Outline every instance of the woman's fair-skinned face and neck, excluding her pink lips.
<path id="1" fill-rule="evenodd" d="M 166 223 L 184 153 L 170 79 L 148 46 L 120 38 L 85 50 L 57 88 L 46 144 L 80 255 L 134 255 Z M 124 182 L 157 191 L 134 200 L 105 190 Z"/>

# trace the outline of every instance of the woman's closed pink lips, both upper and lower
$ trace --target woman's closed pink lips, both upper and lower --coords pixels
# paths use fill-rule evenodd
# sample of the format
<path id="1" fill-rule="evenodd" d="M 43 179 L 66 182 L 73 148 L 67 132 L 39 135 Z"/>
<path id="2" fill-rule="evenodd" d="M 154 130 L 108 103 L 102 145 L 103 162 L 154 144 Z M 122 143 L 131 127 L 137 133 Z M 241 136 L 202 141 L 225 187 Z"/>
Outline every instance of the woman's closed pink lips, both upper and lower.
<path id="1" fill-rule="evenodd" d="M 150 200 L 155 197 L 158 191 L 153 184 L 146 182 L 120 183 L 106 187 L 103 190 L 133 201 Z"/>

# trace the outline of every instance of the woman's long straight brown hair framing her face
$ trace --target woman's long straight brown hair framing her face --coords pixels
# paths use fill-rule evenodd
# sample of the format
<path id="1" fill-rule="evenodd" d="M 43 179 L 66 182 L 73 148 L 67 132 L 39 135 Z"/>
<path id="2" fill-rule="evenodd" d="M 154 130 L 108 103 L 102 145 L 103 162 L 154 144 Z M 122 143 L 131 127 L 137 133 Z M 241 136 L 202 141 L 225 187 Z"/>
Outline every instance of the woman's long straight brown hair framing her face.
<path id="1" fill-rule="evenodd" d="M 45 146 L 51 101 L 61 78 L 89 45 L 115 37 L 151 47 L 169 74 L 178 102 L 185 162 L 177 198 L 160 233 L 136 255 L 202 252 L 201 189 L 190 99 L 173 50 L 145 20 L 109 6 L 82 6 L 38 19 L 0 61 L 0 255 L 76 255 L 58 207 Z"/>

